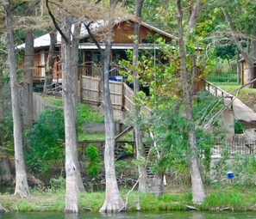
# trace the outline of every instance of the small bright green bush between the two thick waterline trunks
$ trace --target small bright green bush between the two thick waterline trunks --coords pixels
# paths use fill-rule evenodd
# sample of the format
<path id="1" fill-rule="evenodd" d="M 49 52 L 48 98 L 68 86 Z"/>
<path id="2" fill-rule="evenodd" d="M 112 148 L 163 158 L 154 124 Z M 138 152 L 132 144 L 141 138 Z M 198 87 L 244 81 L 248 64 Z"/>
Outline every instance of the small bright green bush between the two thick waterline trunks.
<path id="1" fill-rule="evenodd" d="M 88 158 L 88 162 L 85 165 L 86 172 L 94 178 L 99 173 L 99 169 L 101 166 L 101 161 L 99 157 L 98 149 L 95 145 L 89 144 L 86 149 L 86 157 Z"/>

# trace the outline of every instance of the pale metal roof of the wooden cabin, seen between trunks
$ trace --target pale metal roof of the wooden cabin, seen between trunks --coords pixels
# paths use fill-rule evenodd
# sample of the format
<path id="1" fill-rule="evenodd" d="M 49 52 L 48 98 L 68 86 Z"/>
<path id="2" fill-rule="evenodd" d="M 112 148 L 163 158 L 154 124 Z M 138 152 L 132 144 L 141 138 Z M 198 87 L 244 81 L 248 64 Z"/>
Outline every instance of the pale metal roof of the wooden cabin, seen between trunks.
<path id="1" fill-rule="evenodd" d="M 116 25 L 119 24 L 119 23 L 122 23 L 123 21 L 133 21 L 133 20 L 131 20 L 131 19 L 119 20 L 119 21 L 116 21 Z M 99 30 L 100 27 L 106 26 L 107 23 L 108 23 L 108 21 L 103 21 L 103 20 L 95 21 L 95 22 L 91 23 L 91 26 L 90 26 L 91 27 L 91 32 L 92 33 L 97 32 L 97 30 Z M 167 33 L 163 30 L 160 30 L 157 27 L 153 27 L 152 25 L 147 24 L 146 22 L 140 22 L 140 26 L 147 27 L 148 29 L 151 29 L 151 30 L 153 30 L 157 33 L 160 33 L 160 34 L 164 35 L 165 37 L 170 38 L 172 40 L 177 40 L 178 39 L 175 36 L 173 36 L 172 34 Z M 74 25 L 72 25 L 72 31 L 73 31 L 73 29 L 74 29 Z M 82 39 L 82 38 L 84 38 L 88 35 L 89 35 L 89 33 L 87 32 L 86 28 L 84 27 L 84 24 L 82 24 L 81 31 L 80 31 L 80 38 Z M 42 48 L 42 47 L 50 46 L 50 42 L 51 42 L 50 34 L 49 33 L 44 34 L 41 37 L 38 37 L 38 38 L 34 39 L 34 48 Z M 61 43 L 61 35 L 58 32 L 57 33 L 57 43 L 56 43 L 56 45 L 59 45 L 60 43 Z M 17 49 L 24 49 L 25 48 L 25 43 L 23 43 L 22 45 L 16 46 L 16 48 Z"/>

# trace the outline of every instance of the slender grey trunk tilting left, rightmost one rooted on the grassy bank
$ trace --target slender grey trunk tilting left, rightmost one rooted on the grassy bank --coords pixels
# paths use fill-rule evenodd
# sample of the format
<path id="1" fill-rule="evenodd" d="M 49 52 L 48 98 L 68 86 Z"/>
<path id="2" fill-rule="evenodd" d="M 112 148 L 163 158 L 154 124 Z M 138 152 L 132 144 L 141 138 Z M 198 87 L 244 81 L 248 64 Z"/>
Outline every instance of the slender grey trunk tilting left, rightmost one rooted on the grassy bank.
<path id="1" fill-rule="evenodd" d="M 186 68 L 186 52 L 184 46 L 184 29 L 182 25 L 183 10 L 181 0 L 177 0 L 178 5 L 178 46 L 180 57 L 181 83 L 184 93 L 185 117 L 189 123 L 193 122 L 192 118 L 192 86 L 190 86 L 190 77 Z M 203 203 L 205 192 L 203 187 L 203 180 L 201 177 L 198 158 L 197 158 L 197 143 L 195 127 L 190 126 L 189 133 L 189 147 L 190 147 L 190 174 L 193 203 Z"/>

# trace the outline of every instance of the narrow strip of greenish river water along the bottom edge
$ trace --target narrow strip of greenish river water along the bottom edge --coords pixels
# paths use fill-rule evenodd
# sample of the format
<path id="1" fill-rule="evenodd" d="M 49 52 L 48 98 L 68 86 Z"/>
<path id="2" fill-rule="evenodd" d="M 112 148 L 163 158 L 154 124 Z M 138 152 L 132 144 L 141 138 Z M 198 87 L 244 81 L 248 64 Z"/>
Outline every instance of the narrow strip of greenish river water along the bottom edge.
<path id="1" fill-rule="evenodd" d="M 99 213 L 81 213 L 79 215 L 65 215 L 55 212 L 28 212 L 5 213 L 0 219 L 255 219 L 255 212 L 200 212 L 200 211 L 174 211 L 174 212 L 147 212 L 123 213 L 116 215 L 101 215 Z"/>

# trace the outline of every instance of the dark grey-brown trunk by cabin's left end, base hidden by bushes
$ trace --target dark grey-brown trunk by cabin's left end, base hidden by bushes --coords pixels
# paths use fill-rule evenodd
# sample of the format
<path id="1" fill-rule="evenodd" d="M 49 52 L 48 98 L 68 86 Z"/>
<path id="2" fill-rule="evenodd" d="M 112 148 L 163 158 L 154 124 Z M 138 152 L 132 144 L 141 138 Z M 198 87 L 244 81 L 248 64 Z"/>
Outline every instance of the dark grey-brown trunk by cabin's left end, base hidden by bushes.
<path id="1" fill-rule="evenodd" d="M 25 72 L 23 83 L 24 130 L 33 125 L 33 67 L 34 67 L 34 34 L 28 30 L 25 35 Z"/>

